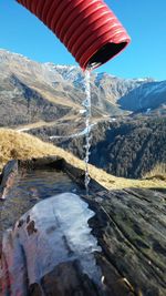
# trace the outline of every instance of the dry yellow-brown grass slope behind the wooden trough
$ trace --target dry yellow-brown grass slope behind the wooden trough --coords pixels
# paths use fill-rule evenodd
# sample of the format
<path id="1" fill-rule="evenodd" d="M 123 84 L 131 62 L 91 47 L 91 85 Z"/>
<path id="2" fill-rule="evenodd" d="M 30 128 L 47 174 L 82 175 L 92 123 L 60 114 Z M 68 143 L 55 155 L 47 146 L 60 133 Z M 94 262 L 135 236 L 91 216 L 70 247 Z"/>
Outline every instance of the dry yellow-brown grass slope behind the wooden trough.
<path id="1" fill-rule="evenodd" d="M 38 137 L 25 133 L 19 133 L 9 129 L 0 129 L 0 170 L 11 159 L 30 160 L 32 157 L 49 155 L 58 155 L 65 159 L 66 162 L 75 167 L 82 170 L 85 169 L 83 161 L 60 147 L 44 143 Z M 162 180 L 128 180 L 110 175 L 93 165 L 89 165 L 89 167 L 91 177 L 96 180 L 106 188 L 166 187 L 166 182 Z"/>

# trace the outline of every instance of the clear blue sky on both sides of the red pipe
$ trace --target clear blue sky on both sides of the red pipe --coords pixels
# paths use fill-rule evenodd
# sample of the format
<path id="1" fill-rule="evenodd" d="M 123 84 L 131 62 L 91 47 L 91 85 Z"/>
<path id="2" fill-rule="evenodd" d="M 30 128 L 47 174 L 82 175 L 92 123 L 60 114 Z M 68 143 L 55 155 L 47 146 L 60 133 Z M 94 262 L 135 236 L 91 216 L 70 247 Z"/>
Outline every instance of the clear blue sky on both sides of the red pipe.
<path id="1" fill-rule="evenodd" d="M 101 67 L 122 78 L 166 79 L 166 1 L 106 0 L 132 37 L 131 45 Z M 64 45 L 14 0 L 0 1 L 0 48 L 40 62 L 75 63 Z"/>

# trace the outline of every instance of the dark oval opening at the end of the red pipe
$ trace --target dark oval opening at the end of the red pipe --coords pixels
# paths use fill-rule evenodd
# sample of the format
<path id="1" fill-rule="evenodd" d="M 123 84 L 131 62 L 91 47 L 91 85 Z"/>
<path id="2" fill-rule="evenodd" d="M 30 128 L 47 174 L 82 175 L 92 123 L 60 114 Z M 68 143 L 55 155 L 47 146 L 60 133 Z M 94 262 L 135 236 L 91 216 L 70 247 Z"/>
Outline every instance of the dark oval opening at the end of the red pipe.
<path id="1" fill-rule="evenodd" d="M 122 51 L 126 47 L 127 42 L 121 43 L 111 43 L 108 42 L 104 47 L 102 47 L 87 62 L 86 69 L 93 70 L 100 67 L 103 63 L 106 63 L 114 55 L 116 55 L 120 51 Z"/>

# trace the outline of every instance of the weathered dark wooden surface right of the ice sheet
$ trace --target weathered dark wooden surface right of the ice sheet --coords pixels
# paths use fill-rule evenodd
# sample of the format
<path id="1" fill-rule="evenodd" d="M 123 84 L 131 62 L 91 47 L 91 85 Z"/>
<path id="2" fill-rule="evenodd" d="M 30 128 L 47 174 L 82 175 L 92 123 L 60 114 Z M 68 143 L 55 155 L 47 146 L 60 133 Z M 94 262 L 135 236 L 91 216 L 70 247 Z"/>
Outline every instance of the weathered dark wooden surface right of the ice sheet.
<path id="1" fill-rule="evenodd" d="M 164 193 L 143 188 L 110 191 L 102 204 L 89 201 L 96 213 L 91 227 L 110 263 L 103 264 L 102 259 L 100 264 L 108 295 L 166 295 L 163 201 L 166 201 Z"/>

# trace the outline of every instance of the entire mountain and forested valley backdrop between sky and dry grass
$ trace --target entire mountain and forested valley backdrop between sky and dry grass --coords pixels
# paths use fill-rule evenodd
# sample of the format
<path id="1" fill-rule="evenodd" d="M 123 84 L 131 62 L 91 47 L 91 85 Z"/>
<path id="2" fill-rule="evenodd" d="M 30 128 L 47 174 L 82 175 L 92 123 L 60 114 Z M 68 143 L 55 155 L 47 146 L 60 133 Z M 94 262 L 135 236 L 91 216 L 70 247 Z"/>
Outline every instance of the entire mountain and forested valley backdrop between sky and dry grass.
<path id="1" fill-rule="evenodd" d="M 90 162 L 135 178 L 165 167 L 166 81 L 93 72 L 91 92 Z M 0 127 L 27 131 L 83 160 L 84 99 L 77 67 L 38 63 L 0 50 Z"/>

